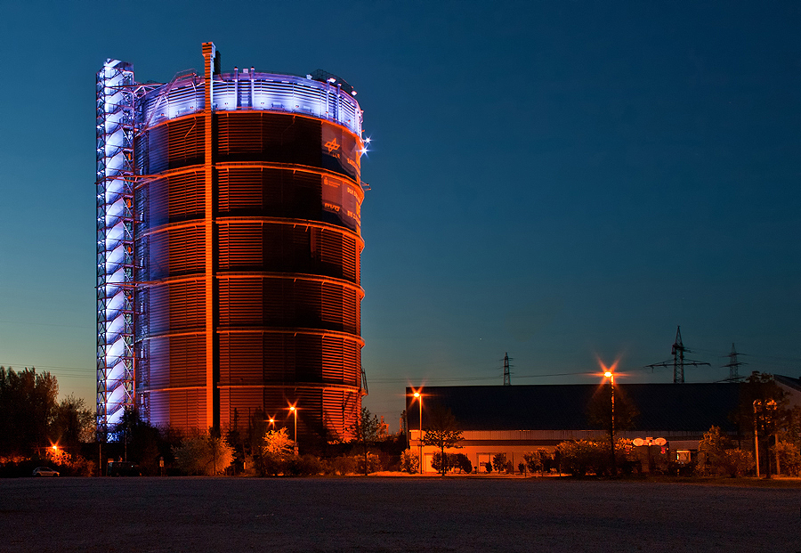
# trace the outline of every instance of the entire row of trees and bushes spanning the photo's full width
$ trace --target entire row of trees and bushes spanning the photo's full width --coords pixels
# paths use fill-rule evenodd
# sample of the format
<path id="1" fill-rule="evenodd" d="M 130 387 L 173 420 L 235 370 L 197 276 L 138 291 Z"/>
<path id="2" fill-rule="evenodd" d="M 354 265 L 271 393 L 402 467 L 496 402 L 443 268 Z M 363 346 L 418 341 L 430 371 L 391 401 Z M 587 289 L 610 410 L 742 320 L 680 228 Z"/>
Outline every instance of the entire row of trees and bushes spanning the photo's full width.
<path id="1" fill-rule="evenodd" d="M 587 406 L 588 419 L 609 436 L 605 443 L 570 441 L 560 443 L 550 453 L 530 451 L 517 469 L 535 473 L 553 467 L 575 475 L 614 475 L 617 468 L 631 472 L 635 464 L 643 463 L 648 463 L 649 472 L 682 469 L 676 468 L 676 463 L 669 468 L 669 463 L 659 455 L 652 456 L 650 449 L 645 458 L 642 448 L 617 438 L 617 432 L 634 427 L 638 413 L 618 386 L 612 426 L 608 387 L 601 386 Z M 94 411 L 72 395 L 59 402 L 58 391 L 58 382 L 49 372 L 0 367 L 0 470 L 20 460 L 49 459 L 71 469 L 71 474 L 89 474 L 102 471 L 104 459 L 125 458 L 140 464 L 142 472 L 150 475 L 367 475 L 382 469 L 419 471 L 420 459 L 414 451 L 406 450 L 405 436 L 382 435 L 377 417 L 366 408 L 350 428 L 352 440 L 323 443 L 304 451 L 304 455 L 295 454 L 296 444 L 289 439 L 287 428 L 268 427 L 267 418 L 259 412 L 248 421 L 244 434 L 236 429 L 210 428 L 184 435 L 171 427 L 151 426 L 135 410 L 125 411 L 115 428 L 117 443 L 93 450 L 91 444 L 97 444 Z M 726 435 L 717 427 L 710 428 L 700 442 L 698 458 L 691 463 L 694 474 L 751 474 L 756 469 L 755 452 L 762 475 L 801 474 L 801 407 L 790 408 L 787 393 L 773 376 L 758 372 L 740 386 L 740 395 L 740 405 L 730 416 L 739 434 Z M 438 450 L 433 456 L 433 468 L 442 475 L 452 470 L 471 473 L 476 469 L 464 454 L 446 451 L 458 448 L 463 437 L 450 411 L 434 407 L 428 413 L 428 422 L 423 443 Z M 95 452 L 97 460 L 90 463 L 86 458 L 92 458 Z M 482 465 L 487 471 L 514 472 L 512 462 L 503 453 Z"/>

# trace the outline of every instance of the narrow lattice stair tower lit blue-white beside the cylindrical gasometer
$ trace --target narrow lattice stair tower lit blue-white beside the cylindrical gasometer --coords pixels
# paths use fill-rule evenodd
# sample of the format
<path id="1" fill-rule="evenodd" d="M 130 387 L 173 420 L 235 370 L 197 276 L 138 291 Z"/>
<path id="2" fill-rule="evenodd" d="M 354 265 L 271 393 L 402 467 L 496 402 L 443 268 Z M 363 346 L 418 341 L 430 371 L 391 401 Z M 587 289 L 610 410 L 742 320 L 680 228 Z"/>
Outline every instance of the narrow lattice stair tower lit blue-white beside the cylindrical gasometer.
<path id="1" fill-rule="evenodd" d="M 134 406 L 134 70 L 97 74 L 97 432 Z"/>

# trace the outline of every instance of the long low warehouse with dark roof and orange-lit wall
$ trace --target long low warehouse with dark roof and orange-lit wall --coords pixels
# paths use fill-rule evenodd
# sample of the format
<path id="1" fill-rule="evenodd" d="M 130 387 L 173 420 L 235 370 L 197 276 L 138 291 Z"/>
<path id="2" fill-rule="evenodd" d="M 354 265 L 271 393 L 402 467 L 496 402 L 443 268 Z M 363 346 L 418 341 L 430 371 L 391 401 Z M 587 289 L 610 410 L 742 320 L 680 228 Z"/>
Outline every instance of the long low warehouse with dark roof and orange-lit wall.
<path id="1" fill-rule="evenodd" d="M 775 381 L 788 393 L 791 405 L 801 405 L 801 379 L 776 376 Z M 493 455 L 506 453 L 516 470 L 528 451 L 554 451 L 556 444 L 570 440 L 608 440 L 608 434 L 587 417 L 587 407 L 598 389 L 599 385 L 593 384 L 425 386 L 420 390 L 423 435 L 428 414 L 437 408 L 449 409 L 465 438 L 460 448 L 450 452 L 465 453 L 479 471 Z M 625 384 L 615 389 L 626 394 L 627 401 L 639 411 L 634 427 L 617 436 L 632 440 L 663 438 L 671 459 L 689 459 L 713 425 L 732 437 L 738 436 L 730 415 L 740 404 L 740 384 Z M 420 446 L 420 404 L 415 391 L 406 388 L 412 451 Z M 435 472 L 432 458 L 437 451 L 433 446 L 423 447 L 424 471 Z"/>

